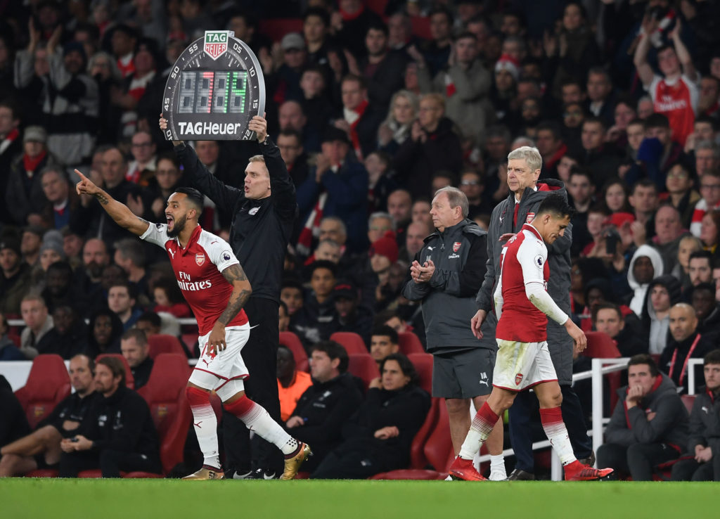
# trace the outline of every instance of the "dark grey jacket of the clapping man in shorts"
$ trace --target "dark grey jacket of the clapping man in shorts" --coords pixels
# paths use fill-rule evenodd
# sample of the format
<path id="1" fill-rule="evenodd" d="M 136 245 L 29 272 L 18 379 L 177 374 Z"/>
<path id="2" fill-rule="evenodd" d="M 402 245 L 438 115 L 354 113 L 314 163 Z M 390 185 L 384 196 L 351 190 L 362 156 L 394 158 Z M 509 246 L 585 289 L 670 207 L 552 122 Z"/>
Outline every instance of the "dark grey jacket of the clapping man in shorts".
<path id="1" fill-rule="evenodd" d="M 454 353 L 466 348 L 497 348 L 494 328 L 482 326 L 483 338 L 477 340 L 470 330 L 475 315 L 475 293 L 485 276 L 487 233 L 471 220 L 446 227 L 425 238 L 415 254 L 420 264 L 431 259 L 435 273 L 426 283 L 415 283 L 410 271 L 402 295 L 410 301 L 422 301 L 428 353 Z"/>

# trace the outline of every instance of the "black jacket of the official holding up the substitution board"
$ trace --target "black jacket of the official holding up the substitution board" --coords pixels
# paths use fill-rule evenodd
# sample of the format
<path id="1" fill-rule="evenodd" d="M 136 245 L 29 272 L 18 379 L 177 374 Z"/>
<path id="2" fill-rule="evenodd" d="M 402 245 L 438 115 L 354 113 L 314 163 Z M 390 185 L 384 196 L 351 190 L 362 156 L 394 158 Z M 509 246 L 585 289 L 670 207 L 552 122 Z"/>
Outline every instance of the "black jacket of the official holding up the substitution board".
<path id="1" fill-rule="evenodd" d="M 207 171 L 195 150 L 184 144 L 175 147 L 192 186 L 207 195 L 218 209 L 233 215 L 230 246 L 253 288 L 251 297 L 280 300 L 280 284 L 287 243 L 297 217 L 295 186 L 279 148 L 267 137 L 259 145 L 270 173 L 271 195 L 251 200 L 243 189 L 223 184 Z M 240 165 L 244 168 L 246 164 Z M 238 168 L 238 175 L 242 175 Z"/>

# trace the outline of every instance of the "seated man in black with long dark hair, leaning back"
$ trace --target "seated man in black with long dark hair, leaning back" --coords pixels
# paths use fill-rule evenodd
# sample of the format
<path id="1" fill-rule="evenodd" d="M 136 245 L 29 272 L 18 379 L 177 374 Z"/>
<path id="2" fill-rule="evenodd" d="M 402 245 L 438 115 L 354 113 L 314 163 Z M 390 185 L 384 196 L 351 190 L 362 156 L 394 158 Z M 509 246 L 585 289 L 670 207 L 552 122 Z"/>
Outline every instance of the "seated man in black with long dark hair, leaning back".
<path id="1" fill-rule="evenodd" d="M 402 469 L 410 444 L 430 409 L 430 395 L 402 353 L 382 363 L 382 381 L 371 384 L 365 402 L 343 426 L 345 441 L 325 457 L 311 479 L 365 479 Z"/>

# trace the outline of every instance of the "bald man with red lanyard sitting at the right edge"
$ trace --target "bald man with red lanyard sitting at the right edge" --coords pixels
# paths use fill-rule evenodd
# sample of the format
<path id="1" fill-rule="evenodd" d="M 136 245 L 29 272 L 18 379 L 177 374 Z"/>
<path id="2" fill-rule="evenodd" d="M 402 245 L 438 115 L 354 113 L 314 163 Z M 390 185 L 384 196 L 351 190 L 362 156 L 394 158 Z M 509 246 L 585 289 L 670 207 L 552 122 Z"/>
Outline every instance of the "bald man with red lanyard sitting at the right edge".
<path id="1" fill-rule="evenodd" d="M 667 373 L 683 392 L 688 391 L 688 361 L 703 358 L 715 346 L 711 339 L 698 333 L 698 316 L 687 303 L 678 303 L 670 308 L 670 335 L 667 346 L 660 356 L 661 371 Z M 696 386 L 703 382 L 703 366 L 695 368 Z"/>

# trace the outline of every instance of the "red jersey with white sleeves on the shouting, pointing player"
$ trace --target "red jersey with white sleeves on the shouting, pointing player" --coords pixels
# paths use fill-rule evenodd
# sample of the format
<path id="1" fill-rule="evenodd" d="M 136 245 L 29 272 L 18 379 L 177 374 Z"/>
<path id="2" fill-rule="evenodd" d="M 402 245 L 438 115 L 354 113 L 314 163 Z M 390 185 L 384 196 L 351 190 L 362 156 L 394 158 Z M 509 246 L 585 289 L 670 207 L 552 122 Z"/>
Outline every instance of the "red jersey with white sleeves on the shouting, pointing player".
<path id="1" fill-rule="evenodd" d="M 178 286 L 197 319 L 199 335 L 210 333 L 233 293 L 233 286 L 221 273 L 229 266 L 240 264 L 230 244 L 199 225 L 185 248 L 181 248 L 177 238 L 168 236 L 168 226 L 164 223 L 151 223 L 140 238 L 168 252 Z M 246 322 L 245 310 L 240 310 L 228 326 Z"/>

